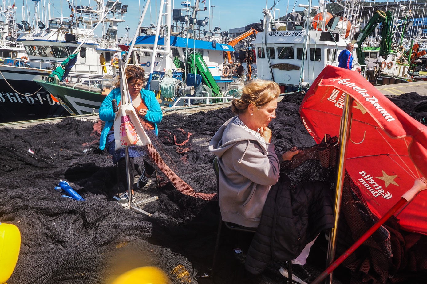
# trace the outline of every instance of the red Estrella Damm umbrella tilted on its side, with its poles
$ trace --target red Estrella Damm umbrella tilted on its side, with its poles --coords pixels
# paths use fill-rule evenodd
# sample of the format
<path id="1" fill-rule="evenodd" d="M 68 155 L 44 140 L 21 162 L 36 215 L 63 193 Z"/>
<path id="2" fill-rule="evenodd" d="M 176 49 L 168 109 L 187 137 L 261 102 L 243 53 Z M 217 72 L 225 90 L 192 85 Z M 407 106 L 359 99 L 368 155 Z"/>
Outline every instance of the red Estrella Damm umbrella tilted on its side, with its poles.
<path id="1" fill-rule="evenodd" d="M 325 134 L 339 136 L 341 132 L 342 168 L 338 170 L 341 181 L 337 182 L 336 210 L 339 212 L 339 184 L 342 185 L 346 170 L 371 212 L 383 217 L 363 236 L 366 240 L 379 223 L 383 224 L 412 199 L 405 196 L 402 201 L 402 195 L 414 181 L 427 176 L 427 127 L 399 109 L 357 72 L 334 66 L 325 67 L 316 78 L 301 103 L 300 114 L 317 143 Z M 423 180 L 417 192 L 425 188 Z M 423 191 L 400 212 L 401 227 L 427 234 L 426 208 L 427 192 Z M 364 240 L 361 238 L 357 246 Z M 330 258 L 333 246 L 330 245 Z M 334 262 L 335 266 L 338 264 Z"/>

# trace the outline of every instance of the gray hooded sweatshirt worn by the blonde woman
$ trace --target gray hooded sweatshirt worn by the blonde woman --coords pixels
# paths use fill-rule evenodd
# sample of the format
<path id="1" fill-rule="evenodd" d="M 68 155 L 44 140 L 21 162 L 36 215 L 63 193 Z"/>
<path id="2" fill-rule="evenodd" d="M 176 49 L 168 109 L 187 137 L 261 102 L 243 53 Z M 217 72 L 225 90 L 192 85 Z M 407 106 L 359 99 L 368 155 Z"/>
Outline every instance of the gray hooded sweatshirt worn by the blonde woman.
<path id="1" fill-rule="evenodd" d="M 219 208 L 222 220 L 257 227 L 270 190 L 279 177 L 274 144 L 264 146 L 257 138 L 233 123 L 225 122 L 209 144 L 218 156 Z"/>

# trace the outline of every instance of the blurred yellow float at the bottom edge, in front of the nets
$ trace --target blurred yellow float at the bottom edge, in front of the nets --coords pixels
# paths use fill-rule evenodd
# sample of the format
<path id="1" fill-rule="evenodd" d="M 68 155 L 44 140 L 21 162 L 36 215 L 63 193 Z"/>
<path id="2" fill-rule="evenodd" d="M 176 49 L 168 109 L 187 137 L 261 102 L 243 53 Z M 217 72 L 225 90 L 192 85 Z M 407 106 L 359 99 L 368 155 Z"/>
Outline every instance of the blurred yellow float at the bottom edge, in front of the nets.
<path id="1" fill-rule="evenodd" d="M 160 268 L 143 266 L 126 271 L 111 284 L 170 284 L 170 281 Z"/>

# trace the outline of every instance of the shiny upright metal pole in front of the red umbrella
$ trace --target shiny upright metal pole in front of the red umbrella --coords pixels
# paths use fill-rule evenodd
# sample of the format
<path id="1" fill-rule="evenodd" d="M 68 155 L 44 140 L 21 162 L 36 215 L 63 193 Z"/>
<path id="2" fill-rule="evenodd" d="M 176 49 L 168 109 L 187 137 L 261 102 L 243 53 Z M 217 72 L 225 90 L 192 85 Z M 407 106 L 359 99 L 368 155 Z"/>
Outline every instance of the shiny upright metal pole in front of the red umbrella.
<path id="1" fill-rule="evenodd" d="M 344 184 L 344 176 L 345 176 L 345 158 L 347 156 L 347 144 L 348 144 L 348 138 L 350 136 L 352 104 L 353 104 L 353 98 L 348 94 L 345 94 L 341 124 L 339 126 L 340 127 L 340 131 L 339 131 L 340 144 L 339 144 L 339 161 L 338 161 L 336 187 L 335 187 L 335 207 L 334 207 L 335 223 L 329 233 L 328 258 L 327 258 L 328 264 L 332 263 L 333 259 L 335 258 L 336 232 L 338 231 L 339 212 L 341 211 L 342 187 Z M 330 273 L 330 277 L 326 281 L 326 283 L 332 284 L 332 273 Z"/>

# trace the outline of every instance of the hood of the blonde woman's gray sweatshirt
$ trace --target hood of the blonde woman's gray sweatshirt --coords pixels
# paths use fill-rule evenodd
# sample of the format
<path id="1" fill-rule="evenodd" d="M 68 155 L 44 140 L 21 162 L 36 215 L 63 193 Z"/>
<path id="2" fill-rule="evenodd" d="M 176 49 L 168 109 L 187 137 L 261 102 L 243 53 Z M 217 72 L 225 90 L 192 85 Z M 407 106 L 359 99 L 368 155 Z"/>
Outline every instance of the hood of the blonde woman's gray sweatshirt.
<path id="1" fill-rule="evenodd" d="M 222 154 L 224 154 L 225 151 L 233 147 L 235 143 L 240 141 L 247 141 L 247 149 L 247 147 L 249 146 L 249 141 L 255 141 L 263 149 L 264 154 L 267 155 L 267 149 L 261 143 L 259 143 L 258 139 L 252 133 L 233 123 L 235 118 L 237 118 L 237 116 L 234 116 L 227 120 L 218 129 L 215 135 L 213 135 L 213 138 L 209 143 L 209 151 L 221 158 Z M 246 151 L 243 153 L 240 160 L 243 159 L 245 153 Z"/>

